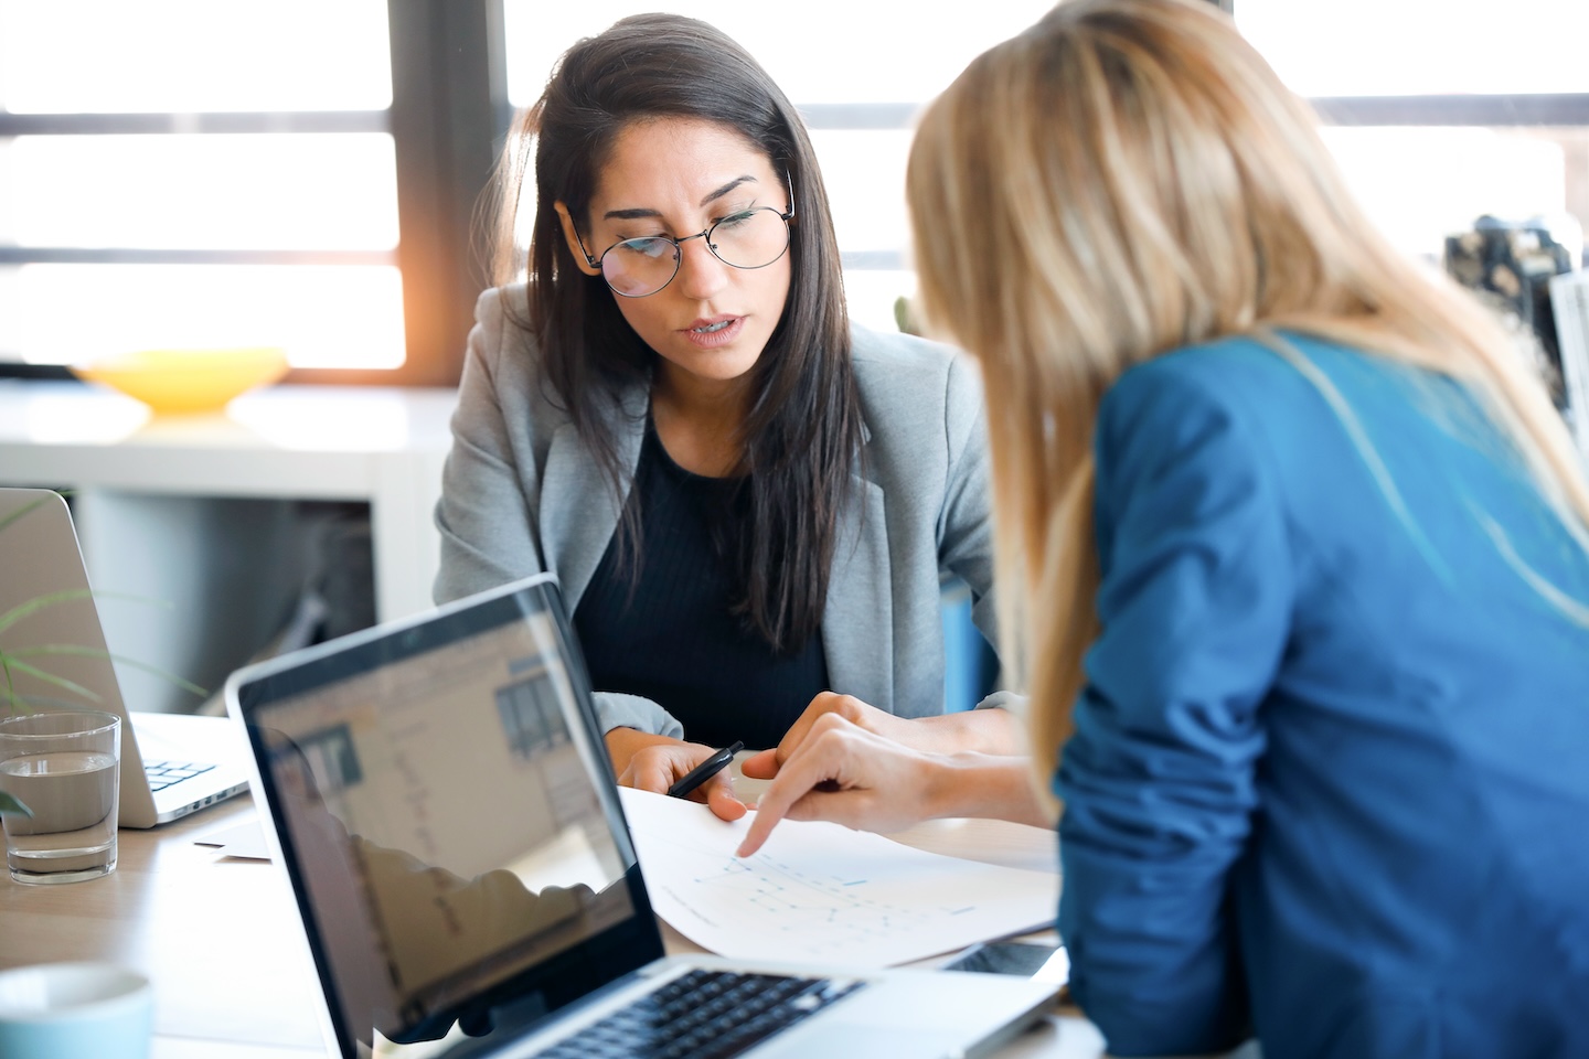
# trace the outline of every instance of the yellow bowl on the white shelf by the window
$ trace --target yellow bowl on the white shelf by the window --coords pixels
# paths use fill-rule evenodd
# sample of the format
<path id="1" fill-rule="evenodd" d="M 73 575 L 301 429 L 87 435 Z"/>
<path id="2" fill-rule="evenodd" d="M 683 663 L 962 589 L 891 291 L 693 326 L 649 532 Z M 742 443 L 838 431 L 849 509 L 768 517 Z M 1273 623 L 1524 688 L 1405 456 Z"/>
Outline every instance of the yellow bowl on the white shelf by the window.
<path id="1" fill-rule="evenodd" d="M 73 367 L 78 378 L 105 383 L 156 413 L 213 411 L 288 372 L 275 346 L 238 349 L 140 349 Z"/>

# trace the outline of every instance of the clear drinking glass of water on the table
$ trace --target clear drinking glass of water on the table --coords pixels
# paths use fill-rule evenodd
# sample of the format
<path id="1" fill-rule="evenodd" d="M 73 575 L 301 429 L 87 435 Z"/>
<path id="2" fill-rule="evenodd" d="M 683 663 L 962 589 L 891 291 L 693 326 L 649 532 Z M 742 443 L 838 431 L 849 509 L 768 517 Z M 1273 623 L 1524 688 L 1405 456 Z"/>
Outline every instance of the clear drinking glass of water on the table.
<path id="1" fill-rule="evenodd" d="M 59 710 L 0 719 L 0 791 L 32 816 L 5 813 L 17 883 L 79 883 L 116 868 L 121 718 Z"/>

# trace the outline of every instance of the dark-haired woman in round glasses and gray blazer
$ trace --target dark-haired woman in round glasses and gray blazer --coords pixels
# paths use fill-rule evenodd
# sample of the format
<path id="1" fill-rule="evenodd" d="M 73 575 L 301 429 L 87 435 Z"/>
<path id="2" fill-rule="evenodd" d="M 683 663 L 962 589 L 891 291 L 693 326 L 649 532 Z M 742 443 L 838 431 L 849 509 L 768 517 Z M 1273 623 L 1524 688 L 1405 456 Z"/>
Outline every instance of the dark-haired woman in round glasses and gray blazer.
<path id="1" fill-rule="evenodd" d="M 1003 710 L 942 714 L 941 576 L 992 635 L 980 389 L 942 346 L 850 327 L 783 94 L 712 27 L 637 16 L 563 56 L 521 133 L 528 284 L 480 298 L 437 599 L 553 570 L 632 786 L 823 713 L 1012 753 Z M 744 813 L 726 775 L 702 794 Z"/>

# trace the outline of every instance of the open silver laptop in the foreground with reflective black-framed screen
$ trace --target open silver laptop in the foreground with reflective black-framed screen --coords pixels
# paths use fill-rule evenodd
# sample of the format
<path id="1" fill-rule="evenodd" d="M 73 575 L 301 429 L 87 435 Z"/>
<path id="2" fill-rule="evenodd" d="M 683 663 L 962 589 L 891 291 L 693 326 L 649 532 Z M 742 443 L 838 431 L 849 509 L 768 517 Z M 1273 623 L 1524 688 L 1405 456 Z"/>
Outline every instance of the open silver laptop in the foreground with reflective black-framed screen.
<path id="1" fill-rule="evenodd" d="M 976 1056 L 1058 991 L 666 957 L 550 575 L 238 670 L 226 699 L 346 1059 Z"/>

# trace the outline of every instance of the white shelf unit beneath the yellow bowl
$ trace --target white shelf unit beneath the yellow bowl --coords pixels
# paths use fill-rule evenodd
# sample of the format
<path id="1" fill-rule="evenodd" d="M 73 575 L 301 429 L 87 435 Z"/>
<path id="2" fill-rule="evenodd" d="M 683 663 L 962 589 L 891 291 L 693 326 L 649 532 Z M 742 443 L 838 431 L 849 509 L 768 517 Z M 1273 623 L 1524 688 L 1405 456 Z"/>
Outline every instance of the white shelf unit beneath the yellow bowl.
<path id="1" fill-rule="evenodd" d="M 199 643 L 216 622 L 238 624 L 226 610 L 240 600 L 218 597 L 218 586 L 202 583 L 207 572 L 243 568 L 269 587 L 276 565 L 280 594 L 297 589 L 289 557 L 270 554 L 280 527 L 256 524 L 254 508 L 227 500 L 367 503 L 377 618 L 429 608 L 440 548 L 432 511 L 456 403 L 453 389 L 275 386 L 224 413 L 153 416 L 99 386 L 6 379 L 0 484 L 76 491 L 78 535 L 95 586 L 191 611 L 154 627 L 146 616 L 105 616 L 111 649 L 181 668 L 191 659 L 173 640 Z M 246 626 L 251 616 L 242 618 Z M 127 673 L 122 683 L 127 692 L 138 678 Z"/>

